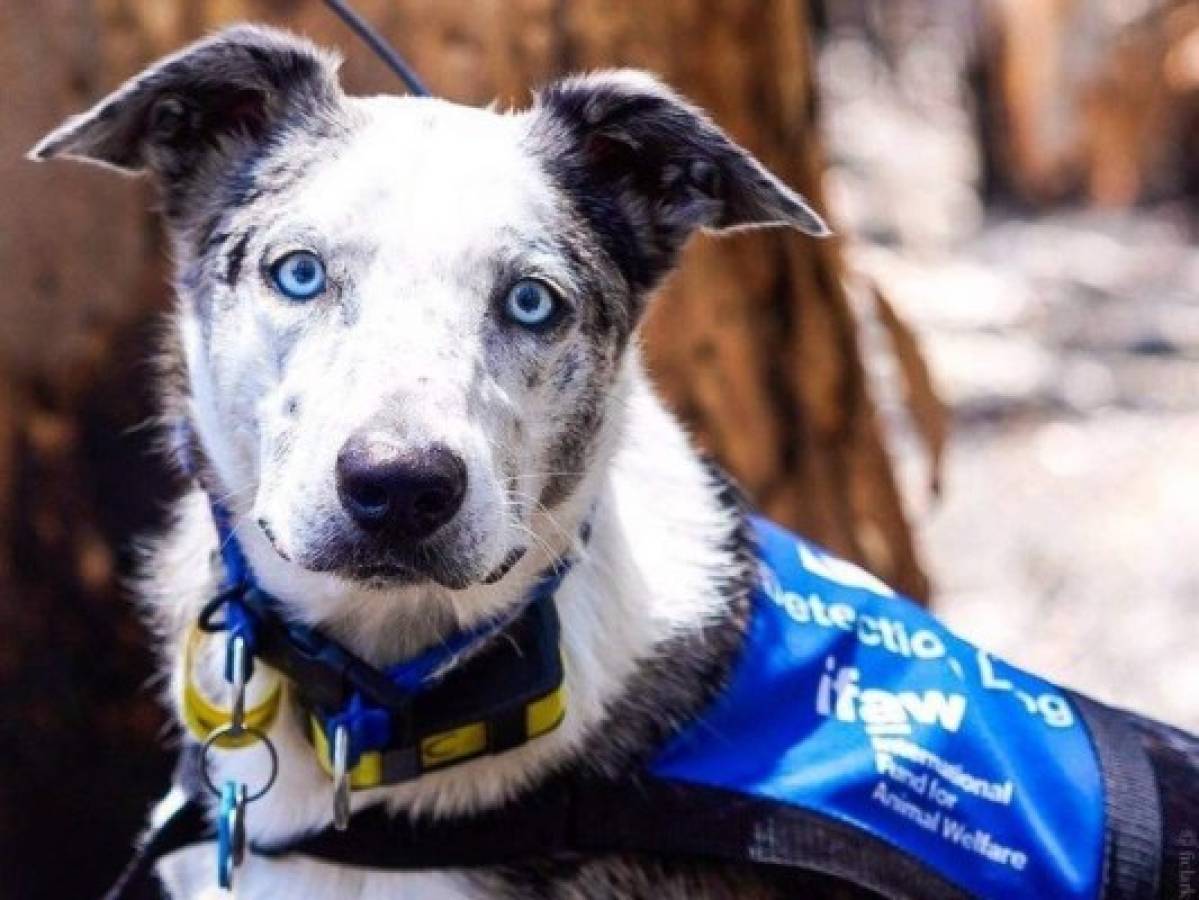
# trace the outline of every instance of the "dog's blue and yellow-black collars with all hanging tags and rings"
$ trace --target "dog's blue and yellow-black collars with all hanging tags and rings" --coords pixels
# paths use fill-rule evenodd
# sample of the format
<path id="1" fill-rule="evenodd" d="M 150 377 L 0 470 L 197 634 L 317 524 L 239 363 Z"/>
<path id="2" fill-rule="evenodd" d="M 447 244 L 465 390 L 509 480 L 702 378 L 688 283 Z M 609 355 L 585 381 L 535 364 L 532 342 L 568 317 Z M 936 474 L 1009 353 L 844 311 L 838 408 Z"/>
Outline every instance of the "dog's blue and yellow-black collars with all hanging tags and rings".
<path id="1" fill-rule="evenodd" d="M 398 784 L 484 754 L 504 753 L 553 731 L 566 714 L 554 594 L 571 569 L 564 557 L 543 572 L 514 610 L 448 635 L 412 659 L 376 668 L 315 628 L 289 621 L 263 591 L 234 534 L 228 512 L 212 505 L 225 579 L 206 603 L 183 646 L 183 721 L 200 743 L 204 781 L 221 797 L 218 875 L 231 884 L 245 846 L 245 808 L 273 783 L 278 757 L 267 730 L 291 695 L 305 733 L 333 780 L 335 826 L 349 822 L 349 793 Z M 588 527 L 580 531 L 586 540 Z M 194 681 L 193 657 L 204 634 L 225 635 L 224 708 Z M 502 635 L 504 640 L 496 640 Z M 246 684 L 260 660 L 278 681 L 245 707 Z M 272 772 L 255 793 L 211 783 L 211 747 L 263 743 Z"/>

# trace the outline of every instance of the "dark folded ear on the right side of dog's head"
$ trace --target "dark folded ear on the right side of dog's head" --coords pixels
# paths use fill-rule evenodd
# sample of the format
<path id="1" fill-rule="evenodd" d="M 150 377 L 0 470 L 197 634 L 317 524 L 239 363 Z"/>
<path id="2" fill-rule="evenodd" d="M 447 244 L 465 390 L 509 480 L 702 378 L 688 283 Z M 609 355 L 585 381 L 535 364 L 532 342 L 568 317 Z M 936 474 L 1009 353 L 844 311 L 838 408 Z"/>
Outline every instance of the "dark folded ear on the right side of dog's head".
<path id="1" fill-rule="evenodd" d="M 697 229 L 829 226 L 698 108 L 645 72 L 567 78 L 536 98 L 546 164 L 589 218 L 631 229 L 669 264 Z M 651 260 L 646 260 L 647 262 Z"/>

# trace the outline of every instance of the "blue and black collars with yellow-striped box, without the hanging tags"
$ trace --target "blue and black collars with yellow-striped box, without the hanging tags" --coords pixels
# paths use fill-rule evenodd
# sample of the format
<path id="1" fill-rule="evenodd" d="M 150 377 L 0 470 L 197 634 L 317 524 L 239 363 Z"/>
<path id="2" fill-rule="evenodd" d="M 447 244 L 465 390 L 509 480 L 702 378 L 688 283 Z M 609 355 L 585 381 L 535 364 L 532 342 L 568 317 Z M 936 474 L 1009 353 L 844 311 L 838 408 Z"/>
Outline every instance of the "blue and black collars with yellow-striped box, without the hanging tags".
<path id="1" fill-rule="evenodd" d="M 239 676 L 248 679 L 255 658 L 290 682 L 318 760 L 330 774 L 344 772 L 351 787 L 396 784 L 501 753 L 561 721 L 554 594 L 571 560 L 547 569 L 513 610 L 379 669 L 319 630 L 288 621 L 258 587 L 228 512 L 213 505 L 213 520 L 225 580 L 201 611 L 200 629 L 227 634 L 231 684 Z M 501 633 L 507 640 L 494 640 Z M 235 654 L 237 639 L 245 652 Z"/>

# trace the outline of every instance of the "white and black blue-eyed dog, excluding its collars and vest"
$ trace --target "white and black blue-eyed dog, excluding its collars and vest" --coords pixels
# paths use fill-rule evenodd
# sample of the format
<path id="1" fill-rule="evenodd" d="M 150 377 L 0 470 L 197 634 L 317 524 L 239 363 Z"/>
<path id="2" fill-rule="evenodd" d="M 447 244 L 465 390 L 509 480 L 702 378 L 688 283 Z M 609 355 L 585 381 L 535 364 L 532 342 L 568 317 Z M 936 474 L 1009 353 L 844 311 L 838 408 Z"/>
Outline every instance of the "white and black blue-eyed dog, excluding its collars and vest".
<path id="1" fill-rule="evenodd" d="M 638 72 L 570 78 L 496 111 L 349 97 L 336 71 L 306 41 L 234 28 L 34 151 L 145 171 L 162 191 L 179 294 L 167 418 L 187 423 L 197 482 L 147 564 L 173 696 L 186 678 L 224 690 L 216 641 L 194 671 L 180 665 L 219 578 L 210 497 L 287 615 L 378 666 L 502 615 L 574 556 L 556 597 L 561 725 L 354 804 L 448 817 L 550 773 L 619 773 L 718 688 L 753 578 L 742 512 L 651 389 L 638 324 L 695 230 L 825 225 Z M 259 668 L 248 702 L 271 689 Z M 278 780 L 248 819 L 263 845 L 332 816 L 299 717 L 270 737 Z M 210 763 L 217 783 L 266 774 L 255 751 Z M 210 845 L 161 871 L 173 895 L 216 890 Z M 236 892 L 664 900 L 806 883 L 632 856 L 435 872 L 251 856 Z"/>

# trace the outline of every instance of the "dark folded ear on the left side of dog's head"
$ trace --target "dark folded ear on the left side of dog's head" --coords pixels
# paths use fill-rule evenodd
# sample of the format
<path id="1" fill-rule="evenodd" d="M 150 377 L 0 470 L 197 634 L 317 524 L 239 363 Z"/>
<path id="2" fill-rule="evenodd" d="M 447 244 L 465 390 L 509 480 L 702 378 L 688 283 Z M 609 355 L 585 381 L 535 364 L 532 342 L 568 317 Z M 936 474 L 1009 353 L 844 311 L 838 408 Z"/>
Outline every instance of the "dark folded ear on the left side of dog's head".
<path id="1" fill-rule="evenodd" d="M 29 156 L 149 170 L 171 191 L 210 157 L 245 152 L 288 120 L 336 108 L 338 64 L 284 31 L 236 25 L 156 62 Z"/>

